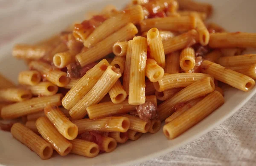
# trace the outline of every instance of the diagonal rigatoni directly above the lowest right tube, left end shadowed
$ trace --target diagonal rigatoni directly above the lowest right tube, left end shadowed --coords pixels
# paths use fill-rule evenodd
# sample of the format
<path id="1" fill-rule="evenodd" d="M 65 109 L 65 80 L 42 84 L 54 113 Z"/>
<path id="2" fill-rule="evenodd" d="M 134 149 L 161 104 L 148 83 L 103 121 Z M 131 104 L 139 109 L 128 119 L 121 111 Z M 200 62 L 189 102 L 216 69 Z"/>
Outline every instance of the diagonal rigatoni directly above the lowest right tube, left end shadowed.
<path id="1" fill-rule="evenodd" d="M 161 121 L 169 117 L 173 112 L 175 112 L 174 106 L 177 103 L 184 103 L 189 100 L 202 97 L 212 91 L 214 91 L 215 85 L 211 77 L 206 77 L 199 80 L 186 88 L 177 92 L 169 100 L 164 101 L 158 106 L 159 119 Z"/>

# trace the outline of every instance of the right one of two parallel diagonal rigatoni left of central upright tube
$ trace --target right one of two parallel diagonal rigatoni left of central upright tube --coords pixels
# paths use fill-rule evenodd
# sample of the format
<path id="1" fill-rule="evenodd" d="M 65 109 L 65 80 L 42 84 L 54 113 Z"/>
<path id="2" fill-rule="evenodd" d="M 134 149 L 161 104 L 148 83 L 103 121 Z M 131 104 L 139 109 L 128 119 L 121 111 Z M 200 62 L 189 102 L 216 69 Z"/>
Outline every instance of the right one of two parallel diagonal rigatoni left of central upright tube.
<path id="1" fill-rule="evenodd" d="M 74 119 L 82 119 L 86 114 L 86 108 L 99 103 L 100 100 L 109 92 L 116 81 L 121 77 L 119 69 L 108 66 L 106 71 L 99 78 L 97 83 L 76 105 L 70 109 L 70 116 Z"/>

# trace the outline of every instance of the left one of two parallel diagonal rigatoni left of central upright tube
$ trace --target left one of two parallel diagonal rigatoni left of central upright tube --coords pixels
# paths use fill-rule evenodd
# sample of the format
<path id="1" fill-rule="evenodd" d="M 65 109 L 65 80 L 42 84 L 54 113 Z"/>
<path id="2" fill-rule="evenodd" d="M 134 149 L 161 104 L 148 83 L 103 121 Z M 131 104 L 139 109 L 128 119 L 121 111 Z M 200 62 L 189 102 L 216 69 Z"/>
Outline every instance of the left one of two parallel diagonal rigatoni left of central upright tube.
<path id="1" fill-rule="evenodd" d="M 86 74 L 81 77 L 81 79 L 73 86 L 69 92 L 63 97 L 62 105 L 66 109 L 72 109 L 76 103 L 81 100 L 85 94 L 87 94 L 90 89 L 99 80 L 102 74 L 108 68 L 109 63 L 107 60 L 103 59 L 97 63 L 92 69 L 88 70 Z"/>

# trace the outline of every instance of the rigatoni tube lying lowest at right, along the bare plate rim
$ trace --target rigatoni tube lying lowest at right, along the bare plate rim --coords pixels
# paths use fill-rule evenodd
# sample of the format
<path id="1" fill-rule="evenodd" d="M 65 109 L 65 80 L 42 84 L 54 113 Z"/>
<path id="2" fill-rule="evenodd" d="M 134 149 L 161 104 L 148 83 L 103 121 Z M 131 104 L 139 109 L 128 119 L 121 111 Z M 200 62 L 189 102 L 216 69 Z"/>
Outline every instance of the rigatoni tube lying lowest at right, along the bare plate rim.
<path id="1" fill-rule="evenodd" d="M 163 133 L 168 139 L 173 139 L 207 117 L 224 103 L 223 96 L 214 91 L 204 97 L 191 109 L 187 110 L 171 122 L 163 126 Z M 177 125 L 179 124 L 179 125 Z"/>

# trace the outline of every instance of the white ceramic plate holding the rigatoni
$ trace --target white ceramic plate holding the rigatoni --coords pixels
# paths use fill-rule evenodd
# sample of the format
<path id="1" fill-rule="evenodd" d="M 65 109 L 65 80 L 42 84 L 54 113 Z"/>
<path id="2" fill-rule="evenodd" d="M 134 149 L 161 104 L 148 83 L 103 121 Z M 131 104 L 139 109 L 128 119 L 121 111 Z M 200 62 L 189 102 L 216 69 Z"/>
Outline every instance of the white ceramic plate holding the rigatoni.
<path id="1" fill-rule="evenodd" d="M 58 33 L 74 20 L 81 20 L 86 11 L 102 9 L 107 4 L 114 4 L 121 8 L 129 0 L 88 0 L 86 6 L 81 6 L 76 13 L 64 16 L 48 25 L 41 26 L 40 29 L 25 34 L 12 44 L 0 50 L 0 72 L 6 77 L 17 82 L 19 71 L 26 69 L 26 66 L 19 60 L 11 56 L 12 46 L 15 43 L 34 43 Z M 215 12 L 212 21 L 223 25 L 230 31 L 256 32 L 255 6 L 256 1 L 247 0 L 201 0 L 213 3 Z M 67 155 L 61 157 L 53 155 L 49 160 L 41 160 L 38 155 L 29 148 L 15 140 L 9 132 L 0 131 L 0 164 L 3 165 L 87 165 L 87 166 L 124 166 L 132 163 L 139 163 L 149 160 L 159 155 L 164 155 L 180 146 L 209 132 L 215 126 L 226 120 L 243 106 L 250 97 L 255 94 L 256 88 L 250 92 L 242 92 L 233 88 L 225 90 L 225 100 L 223 106 L 210 114 L 203 121 L 192 129 L 185 132 L 174 140 L 167 140 L 162 130 L 157 134 L 145 134 L 137 141 L 128 141 L 119 145 L 115 151 L 105 153 L 95 158 L 81 157 L 78 155 Z"/>

